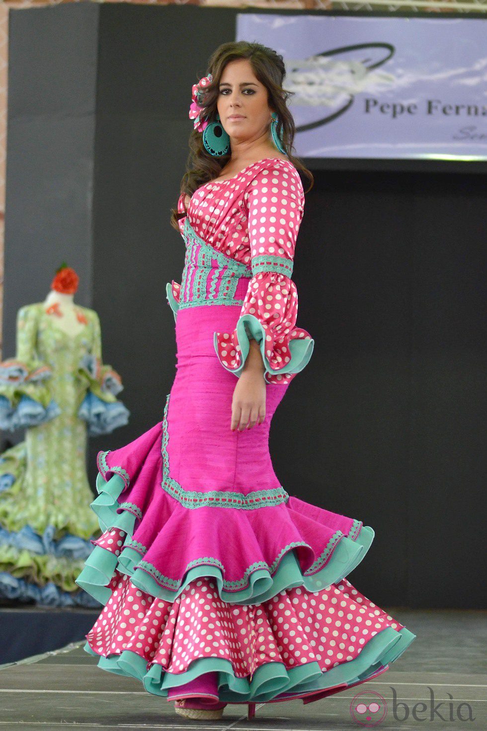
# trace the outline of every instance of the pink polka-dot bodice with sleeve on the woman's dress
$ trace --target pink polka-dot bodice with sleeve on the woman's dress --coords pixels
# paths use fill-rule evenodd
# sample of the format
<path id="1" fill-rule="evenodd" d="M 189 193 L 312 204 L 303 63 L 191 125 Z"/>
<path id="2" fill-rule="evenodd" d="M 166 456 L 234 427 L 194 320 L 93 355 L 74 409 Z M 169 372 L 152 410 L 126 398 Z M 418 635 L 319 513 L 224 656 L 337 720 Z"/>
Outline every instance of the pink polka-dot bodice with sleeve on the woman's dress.
<path id="1" fill-rule="evenodd" d="M 185 210 L 183 201 L 181 194 L 180 212 Z M 279 158 L 259 160 L 233 178 L 205 183 L 191 197 L 186 215 L 196 234 L 252 270 L 235 329 L 215 333 L 218 359 L 237 376 L 245 365 L 242 333 L 263 343 L 267 383 L 288 384 L 310 360 L 314 341 L 307 330 L 296 327 L 298 296 L 291 279 L 303 211 L 299 173 Z M 182 235 L 185 218 L 179 220 Z M 172 294 L 179 302 L 180 284 L 175 281 Z M 306 342 L 290 348 L 296 340 Z"/>

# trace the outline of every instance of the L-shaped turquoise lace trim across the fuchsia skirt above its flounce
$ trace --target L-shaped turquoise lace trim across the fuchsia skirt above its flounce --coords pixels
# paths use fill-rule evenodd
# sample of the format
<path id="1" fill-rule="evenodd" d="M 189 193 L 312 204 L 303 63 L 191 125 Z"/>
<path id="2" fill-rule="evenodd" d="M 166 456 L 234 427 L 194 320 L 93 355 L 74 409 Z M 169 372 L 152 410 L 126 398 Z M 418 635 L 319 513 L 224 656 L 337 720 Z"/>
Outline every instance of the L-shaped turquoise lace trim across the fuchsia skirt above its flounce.
<path id="1" fill-rule="evenodd" d="M 169 477 L 169 454 L 167 444 L 169 433 L 167 430 L 167 411 L 169 409 L 170 393 L 166 395 L 164 404 L 164 415 L 162 418 L 162 481 L 161 487 L 172 498 L 177 500 L 183 507 L 193 510 L 199 507 L 230 507 L 234 510 L 258 510 L 261 507 L 269 507 L 286 503 L 289 499 L 288 493 L 281 486 L 280 488 L 269 488 L 269 490 L 255 490 L 250 493 L 238 493 L 226 490 L 195 491 L 185 490 L 179 482 Z"/>

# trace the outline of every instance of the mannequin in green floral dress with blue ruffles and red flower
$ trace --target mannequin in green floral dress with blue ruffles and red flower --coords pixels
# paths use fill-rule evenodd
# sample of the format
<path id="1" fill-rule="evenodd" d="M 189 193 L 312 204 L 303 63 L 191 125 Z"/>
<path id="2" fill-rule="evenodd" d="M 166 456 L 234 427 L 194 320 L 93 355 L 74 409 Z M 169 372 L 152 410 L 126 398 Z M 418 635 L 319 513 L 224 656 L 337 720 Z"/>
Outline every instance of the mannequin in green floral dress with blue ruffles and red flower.
<path id="1" fill-rule="evenodd" d="M 58 270 L 54 297 L 18 311 L 16 357 L 0 363 L 0 428 L 26 428 L 0 457 L 0 598 L 97 605 L 74 582 L 100 533 L 87 439 L 125 425 L 129 411 L 116 398 L 120 376 L 102 363 L 98 315 L 67 296 L 76 287 L 74 270 Z"/>

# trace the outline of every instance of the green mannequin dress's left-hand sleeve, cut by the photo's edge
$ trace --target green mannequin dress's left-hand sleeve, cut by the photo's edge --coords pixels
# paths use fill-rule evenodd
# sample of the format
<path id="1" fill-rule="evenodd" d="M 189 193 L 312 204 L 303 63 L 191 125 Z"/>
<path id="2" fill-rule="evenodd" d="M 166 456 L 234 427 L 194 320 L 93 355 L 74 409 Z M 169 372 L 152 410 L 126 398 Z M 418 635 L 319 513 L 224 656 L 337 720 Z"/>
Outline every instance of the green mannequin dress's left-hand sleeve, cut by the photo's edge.
<path id="1" fill-rule="evenodd" d="M 38 308 L 25 305 L 17 313 L 17 355 L 0 363 L 0 428 L 15 431 L 43 424 L 61 414 L 51 398 L 53 371 L 37 357 Z"/>

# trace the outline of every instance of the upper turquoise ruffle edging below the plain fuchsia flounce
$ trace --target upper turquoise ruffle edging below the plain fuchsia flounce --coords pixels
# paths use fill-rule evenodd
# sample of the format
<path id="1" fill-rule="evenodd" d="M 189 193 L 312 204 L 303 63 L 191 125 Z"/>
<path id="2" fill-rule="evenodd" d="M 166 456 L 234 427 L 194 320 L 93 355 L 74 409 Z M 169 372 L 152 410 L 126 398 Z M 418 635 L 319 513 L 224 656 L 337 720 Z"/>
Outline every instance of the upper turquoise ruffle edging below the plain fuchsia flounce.
<path id="1" fill-rule="evenodd" d="M 375 537 L 370 526 L 362 526 L 355 540 L 342 536 L 323 569 L 311 575 L 302 573 L 294 545 L 285 546 L 281 552 L 282 557 L 276 557 L 280 560 L 274 573 L 271 574 L 270 567 L 258 567 L 256 570 L 249 567 L 247 585 L 238 591 L 227 591 L 230 583 L 224 580 L 221 568 L 215 566 L 218 563 L 215 558 L 208 557 L 208 564 L 202 562 L 191 568 L 180 581 L 162 576 L 156 567 L 143 561 L 143 556 L 130 545 L 138 509 L 133 506 L 134 512 L 130 512 L 130 504 L 124 507 L 123 503 L 118 503 L 118 497 L 124 488 L 125 482 L 120 475 L 114 474 L 106 482 L 101 473 L 98 474 L 96 490 L 99 496 L 91 503 L 91 508 L 99 518 L 102 531 L 119 528 L 126 532 L 126 537 L 119 556 L 106 548 L 95 546 L 76 580 L 78 586 L 104 605 L 112 594 L 108 584 L 115 569 L 129 575 L 131 583 L 137 588 L 168 602 L 174 602 L 191 581 L 204 576 L 215 578 L 218 594 L 229 604 L 261 604 L 283 589 L 296 586 L 304 586 L 308 591 L 320 591 L 345 578 L 364 558 Z M 118 513 L 117 509 L 120 508 L 122 512 Z M 154 575 L 157 575 L 159 581 L 156 581 Z M 162 586 L 161 582 L 166 586 Z M 242 585 L 243 583 L 242 581 Z M 234 586 L 234 582 L 231 584 Z"/>

